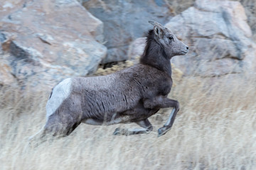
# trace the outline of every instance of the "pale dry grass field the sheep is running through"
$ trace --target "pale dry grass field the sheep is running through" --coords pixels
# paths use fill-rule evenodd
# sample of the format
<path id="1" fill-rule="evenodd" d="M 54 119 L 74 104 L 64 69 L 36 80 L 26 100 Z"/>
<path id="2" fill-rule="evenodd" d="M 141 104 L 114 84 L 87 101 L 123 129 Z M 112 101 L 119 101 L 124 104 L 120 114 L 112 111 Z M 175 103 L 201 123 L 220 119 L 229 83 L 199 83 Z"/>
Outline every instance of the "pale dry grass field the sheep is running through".
<path id="1" fill-rule="evenodd" d="M 80 125 L 70 136 L 38 147 L 28 137 L 45 123 L 48 94 L 0 92 L 1 169 L 256 169 L 255 79 L 186 77 L 172 89 L 180 101 L 173 128 L 156 130 L 170 110 L 150 118 L 154 132 L 114 136 L 117 127 Z"/>

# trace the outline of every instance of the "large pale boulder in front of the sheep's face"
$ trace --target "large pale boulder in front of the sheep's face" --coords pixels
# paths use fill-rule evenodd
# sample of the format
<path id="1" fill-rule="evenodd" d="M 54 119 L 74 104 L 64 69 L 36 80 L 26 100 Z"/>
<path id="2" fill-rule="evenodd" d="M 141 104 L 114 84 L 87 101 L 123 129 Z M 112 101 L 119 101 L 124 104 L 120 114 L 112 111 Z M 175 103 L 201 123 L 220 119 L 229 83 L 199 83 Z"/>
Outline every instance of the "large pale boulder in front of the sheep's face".
<path id="1" fill-rule="evenodd" d="M 250 72 L 256 64 L 256 45 L 238 1 L 198 0 L 165 26 L 189 46 L 187 55 L 172 60 L 186 75 Z"/>

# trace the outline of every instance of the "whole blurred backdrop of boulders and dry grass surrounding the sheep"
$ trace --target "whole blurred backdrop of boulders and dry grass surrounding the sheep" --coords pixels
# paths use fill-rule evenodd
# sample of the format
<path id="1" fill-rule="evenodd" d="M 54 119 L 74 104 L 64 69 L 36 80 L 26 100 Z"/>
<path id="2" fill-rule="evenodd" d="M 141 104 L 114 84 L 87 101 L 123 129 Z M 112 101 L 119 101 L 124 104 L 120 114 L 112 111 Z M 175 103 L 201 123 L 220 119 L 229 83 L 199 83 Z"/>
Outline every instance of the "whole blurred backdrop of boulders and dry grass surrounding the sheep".
<path id="1" fill-rule="evenodd" d="M 255 10 L 254 0 L 0 0 L 1 169 L 256 169 Z M 189 46 L 171 60 L 172 130 L 156 137 L 163 109 L 147 135 L 80 125 L 28 147 L 53 86 L 137 64 L 149 20 Z"/>

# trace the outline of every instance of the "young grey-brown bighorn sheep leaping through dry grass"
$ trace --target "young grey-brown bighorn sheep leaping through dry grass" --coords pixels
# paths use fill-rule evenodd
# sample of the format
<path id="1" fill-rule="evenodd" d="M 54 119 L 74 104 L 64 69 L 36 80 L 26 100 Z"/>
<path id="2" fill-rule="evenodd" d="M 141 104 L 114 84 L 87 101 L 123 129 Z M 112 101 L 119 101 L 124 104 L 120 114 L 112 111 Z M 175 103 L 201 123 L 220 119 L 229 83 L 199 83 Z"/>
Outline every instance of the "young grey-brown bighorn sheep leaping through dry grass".
<path id="1" fill-rule="evenodd" d="M 188 46 L 160 23 L 149 23 L 154 29 L 149 30 L 139 64 L 107 76 L 68 78 L 53 88 L 41 137 L 69 135 L 80 123 L 137 123 L 142 129 L 117 128 L 114 135 L 142 134 L 153 129 L 148 118 L 160 108 L 173 110 L 159 136 L 171 129 L 179 106 L 167 98 L 172 86 L 170 59 L 185 55 Z"/>

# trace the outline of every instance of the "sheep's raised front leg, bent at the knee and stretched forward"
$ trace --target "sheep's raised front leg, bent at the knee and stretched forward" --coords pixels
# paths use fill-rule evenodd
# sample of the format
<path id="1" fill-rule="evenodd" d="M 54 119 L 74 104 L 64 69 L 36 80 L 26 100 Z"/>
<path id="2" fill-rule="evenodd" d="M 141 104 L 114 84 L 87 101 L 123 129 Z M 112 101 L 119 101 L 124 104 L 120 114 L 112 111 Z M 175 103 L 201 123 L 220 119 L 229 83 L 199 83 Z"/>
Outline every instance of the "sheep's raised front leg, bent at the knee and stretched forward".
<path id="1" fill-rule="evenodd" d="M 166 98 L 164 96 L 158 96 L 153 99 L 145 99 L 144 100 L 144 107 L 145 108 L 173 108 L 166 124 L 159 128 L 158 136 L 166 134 L 169 130 L 171 130 L 171 126 L 174 124 L 174 120 L 176 118 L 176 114 L 179 110 L 178 101 Z"/>

